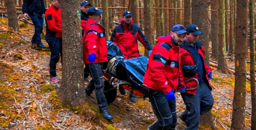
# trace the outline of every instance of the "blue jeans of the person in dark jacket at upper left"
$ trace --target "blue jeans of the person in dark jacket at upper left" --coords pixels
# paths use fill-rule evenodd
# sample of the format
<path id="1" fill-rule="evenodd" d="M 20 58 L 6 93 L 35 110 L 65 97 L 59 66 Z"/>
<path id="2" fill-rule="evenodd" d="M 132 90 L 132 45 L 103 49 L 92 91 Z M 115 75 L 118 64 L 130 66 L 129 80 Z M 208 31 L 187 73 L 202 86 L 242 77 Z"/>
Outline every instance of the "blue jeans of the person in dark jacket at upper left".
<path id="1" fill-rule="evenodd" d="M 43 32 L 43 17 L 40 14 L 34 13 L 30 18 L 35 26 L 35 34 L 33 35 L 31 42 L 36 44 L 42 43 L 41 33 Z"/>

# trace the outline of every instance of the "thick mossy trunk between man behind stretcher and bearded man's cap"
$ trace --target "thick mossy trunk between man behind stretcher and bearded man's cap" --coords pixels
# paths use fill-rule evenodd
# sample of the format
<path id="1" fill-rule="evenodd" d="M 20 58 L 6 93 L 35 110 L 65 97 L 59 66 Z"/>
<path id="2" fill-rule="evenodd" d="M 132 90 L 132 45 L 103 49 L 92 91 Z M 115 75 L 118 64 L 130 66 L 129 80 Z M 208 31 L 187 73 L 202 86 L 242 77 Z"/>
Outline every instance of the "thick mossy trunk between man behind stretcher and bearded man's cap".
<path id="1" fill-rule="evenodd" d="M 144 20 L 144 29 L 145 36 L 147 37 L 149 43 L 153 44 L 154 41 L 154 29 L 153 29 L 153 21 L 152 21 L 152 11 L 153 11 L 153 0 L 144 0 L 144 16 L 147 16 L 149 19 Z M 148 57 L 148 50 L 145 49 L 145 56 Z"/>

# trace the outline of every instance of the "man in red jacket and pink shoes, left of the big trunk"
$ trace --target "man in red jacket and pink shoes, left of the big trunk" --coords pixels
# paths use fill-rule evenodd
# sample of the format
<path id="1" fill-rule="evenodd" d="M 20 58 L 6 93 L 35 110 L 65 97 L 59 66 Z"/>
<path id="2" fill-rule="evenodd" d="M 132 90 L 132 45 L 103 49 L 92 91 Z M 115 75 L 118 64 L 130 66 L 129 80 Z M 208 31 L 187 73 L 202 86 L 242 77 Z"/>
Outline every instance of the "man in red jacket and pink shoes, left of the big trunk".
<path id="1" fill-rule="evenodd" d="M 52 0 L 52 5 L 46 10 L 45 14 L 46 34 L 45 40 L 51 50 L 50 58 L 50 79 L 52 82 L 59 83 L 56 74 L 56 64 L 61 55 L 62 64 L 62 25 L 60 17 L 60 0 Z"/>

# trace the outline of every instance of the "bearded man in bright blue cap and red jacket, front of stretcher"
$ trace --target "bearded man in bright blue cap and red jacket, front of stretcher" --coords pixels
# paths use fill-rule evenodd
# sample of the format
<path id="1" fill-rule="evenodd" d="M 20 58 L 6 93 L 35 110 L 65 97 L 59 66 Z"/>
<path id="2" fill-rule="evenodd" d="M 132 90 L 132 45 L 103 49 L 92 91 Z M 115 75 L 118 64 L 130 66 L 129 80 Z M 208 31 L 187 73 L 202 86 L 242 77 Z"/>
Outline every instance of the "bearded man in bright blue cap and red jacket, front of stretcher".
<path id="1" fill-rule="evenodd" d="M 188 32 L 182 25 L 172 27 L 171 35 L 157 39 L 148 59 L 143 84 L 147 86 L 147 96 L 157 117 L 148 130 L 171 130 L 177 124 L 176 98 L 174 91 L 183 89 L 180 83 L 180 45 Z"/>

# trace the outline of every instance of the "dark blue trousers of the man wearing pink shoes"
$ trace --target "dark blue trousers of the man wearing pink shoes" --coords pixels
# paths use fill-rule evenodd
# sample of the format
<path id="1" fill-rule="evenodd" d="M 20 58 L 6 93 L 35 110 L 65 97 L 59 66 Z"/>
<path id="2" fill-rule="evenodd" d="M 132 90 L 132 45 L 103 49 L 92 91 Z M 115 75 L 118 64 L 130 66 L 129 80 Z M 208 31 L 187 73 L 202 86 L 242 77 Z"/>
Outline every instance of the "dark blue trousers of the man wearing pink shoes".
<path id="1" fill-rule="evenodd" d="M 45 39 L 52 53 L 50 58 L 50 77 L 56 77 L 56 64 L 60 60 L 60 56 L 62 65 L 62 38 L 45 36 Z"/>

